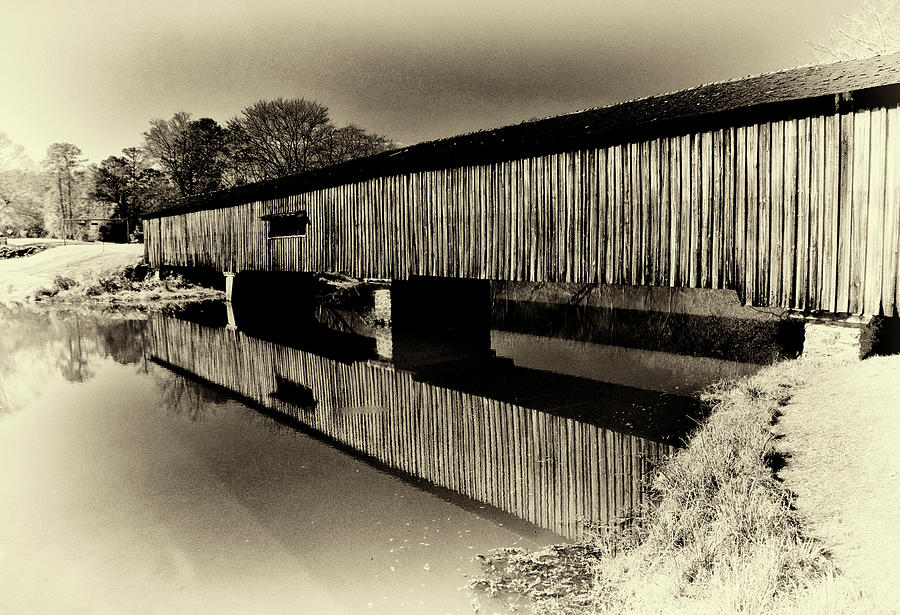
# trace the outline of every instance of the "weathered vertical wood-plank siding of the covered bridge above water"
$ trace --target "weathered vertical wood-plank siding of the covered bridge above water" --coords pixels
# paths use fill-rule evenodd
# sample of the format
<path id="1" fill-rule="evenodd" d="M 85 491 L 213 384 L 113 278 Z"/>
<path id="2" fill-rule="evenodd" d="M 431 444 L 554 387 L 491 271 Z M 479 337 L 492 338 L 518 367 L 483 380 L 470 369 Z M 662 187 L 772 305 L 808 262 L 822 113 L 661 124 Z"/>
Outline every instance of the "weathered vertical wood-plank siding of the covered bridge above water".
<path id="1" fill-rule="evenodd" d="M 900 108 L 379 177 L 150 219 L 154 265 L 733 288 L 892 315 Z M 305 209 L 304 238 L 259 218 Z"/>

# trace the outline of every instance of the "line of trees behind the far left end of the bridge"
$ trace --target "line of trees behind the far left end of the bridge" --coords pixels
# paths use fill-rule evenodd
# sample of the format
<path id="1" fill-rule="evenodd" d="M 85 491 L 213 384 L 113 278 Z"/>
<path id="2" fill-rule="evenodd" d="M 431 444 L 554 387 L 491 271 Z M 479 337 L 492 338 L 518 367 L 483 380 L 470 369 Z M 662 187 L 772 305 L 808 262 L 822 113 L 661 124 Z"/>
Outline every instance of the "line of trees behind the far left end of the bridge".
<path id="1" fill-rule="evenodd" d="M 53 143 L 38 167 L 0 132 L 0 235 L 87 238 L 94 221 L 100 238 L 139 238 L 141 217 L 179 198 L 394 147 L 353 124 L 337 126 L 327 107 L 304 98 L 258 101 L 224 126 L 178 112 L 150 120 L 143 137 L 90 165 L 77 146 Z"/>

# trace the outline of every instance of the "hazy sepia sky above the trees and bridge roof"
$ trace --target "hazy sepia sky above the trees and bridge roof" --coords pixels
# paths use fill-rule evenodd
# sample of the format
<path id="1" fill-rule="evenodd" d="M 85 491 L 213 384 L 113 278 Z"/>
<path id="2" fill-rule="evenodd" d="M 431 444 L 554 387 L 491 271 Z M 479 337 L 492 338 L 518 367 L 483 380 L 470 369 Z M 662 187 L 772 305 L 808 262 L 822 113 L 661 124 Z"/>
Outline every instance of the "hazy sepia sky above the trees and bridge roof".
<path id="1" fill-rule="evenodd" d="M 153 118 L 303 97 L 411 145 L 815 63 L 861 4 L 0 0 L 0 132 L 99 162 Z"/>

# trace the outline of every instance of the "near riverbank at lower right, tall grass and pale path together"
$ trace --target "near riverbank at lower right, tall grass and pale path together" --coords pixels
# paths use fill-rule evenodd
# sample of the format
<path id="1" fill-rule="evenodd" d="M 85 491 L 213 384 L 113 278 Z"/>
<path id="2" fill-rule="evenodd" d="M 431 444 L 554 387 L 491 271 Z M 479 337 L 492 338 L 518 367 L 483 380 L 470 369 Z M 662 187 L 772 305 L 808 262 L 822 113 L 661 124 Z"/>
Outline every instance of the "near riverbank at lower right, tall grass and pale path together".
<path id="1" fill-rule="evenodd" d="M 494 553 L 475 595 L 540 613 L 894 612 L 897 559 L 878 537 L 897 535 L 884 513 L 896 494 L 885 478 L 896 477 L 897 396 L 871 385 L 898 373 L 896 356 L 800 359 L 709 392 L 710 418 L 660 469 L 658 506 L 639 529 Z"/>

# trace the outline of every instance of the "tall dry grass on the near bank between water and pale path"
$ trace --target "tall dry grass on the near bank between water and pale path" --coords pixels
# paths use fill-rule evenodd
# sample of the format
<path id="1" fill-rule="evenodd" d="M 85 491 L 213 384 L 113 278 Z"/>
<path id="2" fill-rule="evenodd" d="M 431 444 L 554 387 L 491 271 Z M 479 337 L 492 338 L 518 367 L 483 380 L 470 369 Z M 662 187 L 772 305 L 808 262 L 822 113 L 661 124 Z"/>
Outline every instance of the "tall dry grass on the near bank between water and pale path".
<path id="1" fill-rule="evenodd" d="M 775 475 L 772 426 L 819 369 L 784 362 L 709 391 L 709 419 L 660 469 L 657 506 L 638 524 L 541 553 L 493 553 L 475 595 L 538 613 L 877 612 Z"/>

